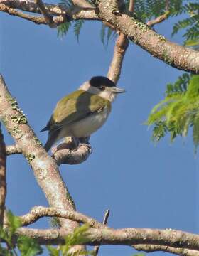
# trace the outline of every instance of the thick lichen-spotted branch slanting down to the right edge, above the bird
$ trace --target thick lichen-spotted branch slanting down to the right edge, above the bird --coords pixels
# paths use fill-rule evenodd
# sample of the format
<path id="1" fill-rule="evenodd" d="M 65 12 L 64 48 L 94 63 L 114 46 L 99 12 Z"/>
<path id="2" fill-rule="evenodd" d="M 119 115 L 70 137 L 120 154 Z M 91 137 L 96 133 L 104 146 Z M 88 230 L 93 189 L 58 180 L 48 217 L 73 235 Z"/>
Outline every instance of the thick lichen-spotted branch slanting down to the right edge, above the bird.
<path id="1" fill-rule="evenodd" d="M 111 0 L 101 0 L 98 7 L 99 18 L 109 21 L 127 38 L 154 57 L 180 70 L 199 73 L 198 51 L 171 43 L 127 11 L 117 15 L 112 11 Z"/>

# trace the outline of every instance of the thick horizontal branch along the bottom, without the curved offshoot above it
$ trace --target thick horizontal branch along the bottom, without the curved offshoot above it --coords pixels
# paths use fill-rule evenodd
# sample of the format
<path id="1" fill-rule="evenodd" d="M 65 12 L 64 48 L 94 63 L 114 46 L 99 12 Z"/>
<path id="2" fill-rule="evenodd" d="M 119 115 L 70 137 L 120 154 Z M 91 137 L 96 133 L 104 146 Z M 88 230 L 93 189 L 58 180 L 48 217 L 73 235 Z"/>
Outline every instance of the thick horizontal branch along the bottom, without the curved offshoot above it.
<path id="1" fill-rule="evenodd" d="M 68 230 L 36 230 L 19 228 L 20 235 L 36 238 L 40 244 L 58 245 L 65 242 Z M 149 228 L 89 228 L 86 245 L 164 245 L 176 248 L 199 250 L 199 235 L 180 230 L 157 230 Z"/>

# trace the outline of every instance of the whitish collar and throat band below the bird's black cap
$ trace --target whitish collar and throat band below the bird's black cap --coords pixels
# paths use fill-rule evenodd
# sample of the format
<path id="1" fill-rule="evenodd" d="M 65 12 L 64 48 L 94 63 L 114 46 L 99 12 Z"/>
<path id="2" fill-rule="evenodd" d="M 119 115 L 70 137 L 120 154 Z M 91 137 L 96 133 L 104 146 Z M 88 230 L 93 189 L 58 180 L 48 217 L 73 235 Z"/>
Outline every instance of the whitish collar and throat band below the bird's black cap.
<path id="1" fill-rule="evenodd" d="M 80 88 L 80 90 L 85 90 L 86 92 L 90 92 L 95 95 L 99 95 L 100 97 L 103 97 L 106 100 L 109 100 L 110 102 L 113 102 L 116 98 L 116 94 L 109 91 L 109 87 L 107 87 L 105 90 L 99 90 L 97 87 L 91 86 L 89 82 L 83 83 Z"/>

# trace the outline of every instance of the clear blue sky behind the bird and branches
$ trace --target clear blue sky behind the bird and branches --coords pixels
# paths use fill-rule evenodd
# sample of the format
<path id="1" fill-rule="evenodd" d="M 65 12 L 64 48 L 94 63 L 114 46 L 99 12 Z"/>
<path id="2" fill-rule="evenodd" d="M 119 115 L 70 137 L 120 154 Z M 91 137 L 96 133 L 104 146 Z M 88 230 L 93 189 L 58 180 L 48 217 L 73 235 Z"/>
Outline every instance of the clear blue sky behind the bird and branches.
<path id="1" fill-rule="evenodd" d="M 45 126 L 56 102 L 93 75 L 106 75 L 114 41 L 104 48 L 101 24 L 86 22 L 80 43 L 70 33 L 60 39 L 57 31 L 20 18 L 0 15 L 1 73 L 28 122 L 43 144 Z M 171 35 L 171 21 L 156 30 Z M 181 35 L 172 38 L 182 42 Z M 181 75 L 133 43 L 124 58 L 118 85 L 127 92 L 114 102 L 107 123 L 91 137 L 93 153 L 85 163 L 63 165 L 61 174 L 77 210 L 102 220 L 109 208 L 113 228 L 173 228 L 198 233 L 198 156 L 191 136 L 170 144 L 166 137 L 151 142 L 144 125 L 151 108 L 163 98 L 166 83 Z M 4 131 L 7 144 L 11 137 Z M 14 214 L 33 206 L 48 206 L 23 156 L 9 156 L 6 206 Z M 48 220 L 34 227 L 47 228 Z M 132 255 L 130 247 L 103 246 L 99 255 Z M 163 252 L 151 255 L 165 255 Z"/>

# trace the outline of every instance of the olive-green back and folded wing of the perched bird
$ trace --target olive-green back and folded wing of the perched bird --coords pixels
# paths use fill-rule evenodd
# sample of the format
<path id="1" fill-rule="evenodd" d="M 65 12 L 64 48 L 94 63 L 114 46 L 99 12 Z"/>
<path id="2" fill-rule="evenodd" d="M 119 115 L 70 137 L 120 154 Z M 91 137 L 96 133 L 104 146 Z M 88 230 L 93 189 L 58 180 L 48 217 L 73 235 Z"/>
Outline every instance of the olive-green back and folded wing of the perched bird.
<path id="1" fill-rule="evenodd" d="M 60 129 L 63 125 L 77 122 L 90 114 L 102 111 L 107 105 L 111 107 L 110 102 L 99 95 L 77 90 L 58 102 L 48 127 L 50 131 Z"/>

